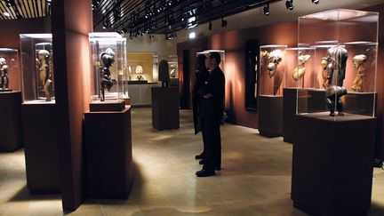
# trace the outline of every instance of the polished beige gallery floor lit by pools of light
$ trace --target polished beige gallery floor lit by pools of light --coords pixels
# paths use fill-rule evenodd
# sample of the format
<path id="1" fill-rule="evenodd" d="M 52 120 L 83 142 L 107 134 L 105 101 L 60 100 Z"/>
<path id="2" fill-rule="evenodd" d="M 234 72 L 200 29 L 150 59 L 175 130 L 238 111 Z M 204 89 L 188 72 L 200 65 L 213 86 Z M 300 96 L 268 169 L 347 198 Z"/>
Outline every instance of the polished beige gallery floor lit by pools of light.
<path id="1" fill-rule="evenodd" d="M 84 201 L 70 215 L 306 215 L 290 199 L 292 145 L 255 129 L 221 127 L 222 170 L 196 178 L 202 149 L 190 111 L 180 129 L 156 131 L 150 108 L 132 108 L 134 183 L 126 200 Z M 350 164 L 350 169 L 354 164 Z M 60 195 L 28 194 L 24 152 L 0 154 L 0 215 L 62 215 Z M 372 209 L 384 215 L 384 172 L 375 168 Z"/>

